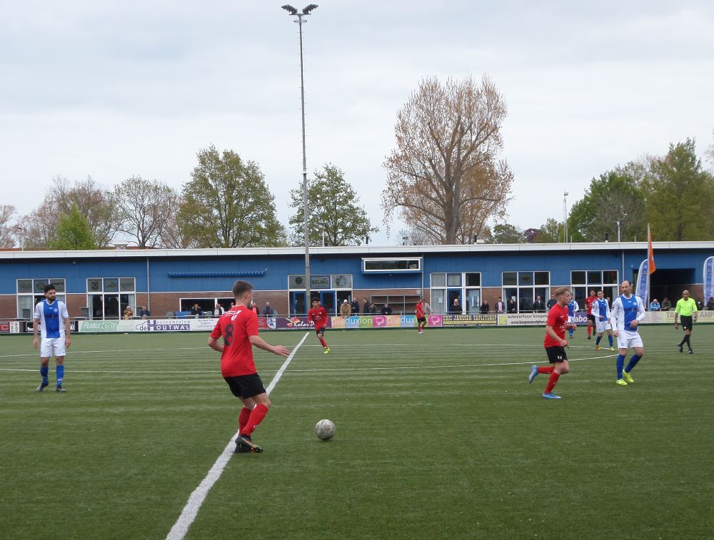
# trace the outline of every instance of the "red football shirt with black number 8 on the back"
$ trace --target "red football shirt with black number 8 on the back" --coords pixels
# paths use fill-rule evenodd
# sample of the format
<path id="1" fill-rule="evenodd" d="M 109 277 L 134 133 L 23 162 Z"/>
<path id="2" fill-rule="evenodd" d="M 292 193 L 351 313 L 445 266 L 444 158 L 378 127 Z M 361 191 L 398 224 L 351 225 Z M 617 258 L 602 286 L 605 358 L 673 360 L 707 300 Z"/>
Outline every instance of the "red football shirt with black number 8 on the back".
<path id="1" fill-rule="evenodd" d="M 258 317 L 253 310 L 238 305 L 221 315 L 213 327 L 211 337 L 217 340 L 223 336 L 221 355 L 221 375 L 237 377 L 256 372 L 253 361 L 253 344 L 248 338 L 258 335 Z"/>

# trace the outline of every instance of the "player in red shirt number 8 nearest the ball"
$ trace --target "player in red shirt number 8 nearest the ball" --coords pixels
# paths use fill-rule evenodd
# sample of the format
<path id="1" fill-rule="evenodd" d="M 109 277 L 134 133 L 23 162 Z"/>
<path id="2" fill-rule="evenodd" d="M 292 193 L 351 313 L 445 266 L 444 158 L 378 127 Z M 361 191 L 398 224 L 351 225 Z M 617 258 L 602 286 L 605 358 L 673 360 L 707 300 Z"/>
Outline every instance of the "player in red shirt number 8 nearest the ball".
<path id="1" fill-rule="evenodd" d="M 251 434 L 268 414 L 271 403 L 256 372 L 253 345 L 279 356 L 288 356 L 290 351 L 282 345 L 270 345 L 258 337 L 258 317 L 253 311 L 253 285 L 247 281 L 236 281 L 233 296 L 236 297 L 236 305 L 218 318 L 208 337 L 208 347 L 221 353 L 221 375 L 233 395 L 243 402 L 238 415 L 236 453 L 263 452 L 253 443 Z M 218 342 L 221 336 L 222 344 Z"/>

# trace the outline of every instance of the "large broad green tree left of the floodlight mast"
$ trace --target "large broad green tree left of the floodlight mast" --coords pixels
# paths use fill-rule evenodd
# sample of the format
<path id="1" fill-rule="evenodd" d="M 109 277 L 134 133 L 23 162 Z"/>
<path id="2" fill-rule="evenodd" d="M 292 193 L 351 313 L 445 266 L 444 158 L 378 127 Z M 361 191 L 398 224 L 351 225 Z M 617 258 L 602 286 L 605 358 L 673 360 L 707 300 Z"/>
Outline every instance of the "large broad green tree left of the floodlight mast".
<path id="1" fill-rule="evenodd" d="M 198 152 L 191 178 L 178 210 L 186 238 L 201 248 L 286 245 L 275 198 L 257 163 L 209 146 Z"/>

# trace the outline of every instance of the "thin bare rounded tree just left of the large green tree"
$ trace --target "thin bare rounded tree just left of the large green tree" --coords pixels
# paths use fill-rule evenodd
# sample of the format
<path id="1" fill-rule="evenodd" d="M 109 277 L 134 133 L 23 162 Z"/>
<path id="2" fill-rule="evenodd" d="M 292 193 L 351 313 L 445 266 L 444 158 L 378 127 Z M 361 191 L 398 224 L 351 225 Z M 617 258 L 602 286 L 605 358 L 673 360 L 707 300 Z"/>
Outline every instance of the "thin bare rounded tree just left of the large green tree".
<path id="1" fill-rule="evenodd" d="M 158 180 L 132 176 L 114 188 L 118 230 L 136 239 L 140 248 L 156 244 L 171 215 L 176 193 Z"/>

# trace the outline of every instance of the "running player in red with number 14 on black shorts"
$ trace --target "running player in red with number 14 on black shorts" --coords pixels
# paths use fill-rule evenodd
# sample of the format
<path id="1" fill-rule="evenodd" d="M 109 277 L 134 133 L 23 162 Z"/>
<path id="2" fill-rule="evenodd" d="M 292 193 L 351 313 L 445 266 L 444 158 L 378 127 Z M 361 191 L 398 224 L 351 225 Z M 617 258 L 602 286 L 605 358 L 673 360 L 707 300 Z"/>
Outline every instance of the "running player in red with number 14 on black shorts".
<path id="1" fill-rule="evenodd" d="M 549 373 L 548 385 L 545 387 L 543 397 L 545 399 L 560 399 L 560 396 L 553 394 L 553 387 L 558 382 L 558 377 L 569 371 L 568 356 L 565 355 L 565 348 L 568 341 L 565 340 L 565 330 L 572 325 L 568 322 L 568 302 L 570 302 L 570 289 L 568 287 L 558 287 L 555 289 L 555 298 L 558 302 L 550 308 L 548 320 L 545 322 L 545 339 L 543 347 L 548 355 L 549 366 L 532 366 L 531 375 L 528 375 L 528 382 L 533 382 L 538 373 Z"/>

